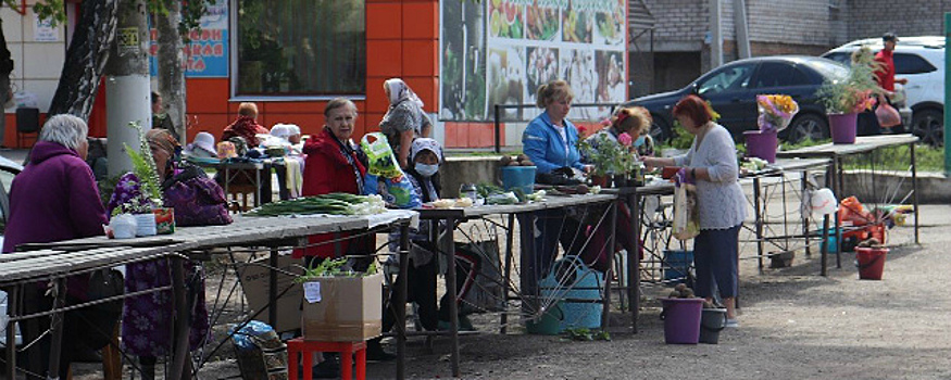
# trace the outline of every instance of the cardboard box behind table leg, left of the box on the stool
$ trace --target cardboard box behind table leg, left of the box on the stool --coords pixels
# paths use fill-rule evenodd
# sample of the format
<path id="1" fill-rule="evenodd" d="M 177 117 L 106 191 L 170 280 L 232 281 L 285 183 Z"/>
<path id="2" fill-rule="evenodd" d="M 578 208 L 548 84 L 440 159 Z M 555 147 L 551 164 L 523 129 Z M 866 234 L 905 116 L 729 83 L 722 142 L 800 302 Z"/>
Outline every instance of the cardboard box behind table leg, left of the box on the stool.
<path id="1" fill-rule="evenodd" d="M 238 271 L 241 281 L 241 288 L 245 290 L 245 297 L 248 300 L 252 314 L 261 311 L 254 319 L 273 325 L 274 330 L 284 332 L 297 330 L 300 328 L 300 303 L 303 297 L 303 289 L 293 283 L 296 276 L 290 276 L 284 273 L 277 273 L 277 322 L 272 324 L 267 320 L 267 296 L 271 289 L 271 270 L 267 268 L 268 257 L 264 256 L 251 262 L 251 265 L 245 265 Z M 277 267 L 288 273 L 303 275 L 303 268 L 300 267 L 301 261 L 290 257 L 290 255 L 281 255 L 277 257 Z M 287 290 L 281 295 L 281 292 Z"/>

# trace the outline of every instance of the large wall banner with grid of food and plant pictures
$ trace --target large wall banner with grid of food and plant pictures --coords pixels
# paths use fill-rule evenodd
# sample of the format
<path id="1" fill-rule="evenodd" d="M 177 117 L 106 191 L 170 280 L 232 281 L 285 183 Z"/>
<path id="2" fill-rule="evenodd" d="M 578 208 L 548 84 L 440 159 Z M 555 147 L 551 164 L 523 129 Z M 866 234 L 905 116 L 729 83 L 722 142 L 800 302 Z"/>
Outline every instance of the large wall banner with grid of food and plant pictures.
<path id="1" fill-rule="evenodd" d="M 538 87 L 566 80 L 574 103 L 626 100 L 625 0 L 441 1 L 442 121 L 488 121 L 493 104 L 535 103 Z M 461 26 L 461 27 L 460 27 Z M 572 109 L 573 119 L 603 117 Z M 503 119 L 520 119 L 506 110 Z"/>

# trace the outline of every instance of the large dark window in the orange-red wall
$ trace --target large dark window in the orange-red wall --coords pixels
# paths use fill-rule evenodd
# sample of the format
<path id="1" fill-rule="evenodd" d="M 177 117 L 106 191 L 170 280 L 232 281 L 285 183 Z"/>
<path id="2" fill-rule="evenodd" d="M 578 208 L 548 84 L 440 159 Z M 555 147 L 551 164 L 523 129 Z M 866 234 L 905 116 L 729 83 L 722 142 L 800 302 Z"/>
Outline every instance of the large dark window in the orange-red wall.
<path id="1" fill-rule="evenodd" d="M 238 96 L 364 93 L 362 0 L 238 0 Z"/>

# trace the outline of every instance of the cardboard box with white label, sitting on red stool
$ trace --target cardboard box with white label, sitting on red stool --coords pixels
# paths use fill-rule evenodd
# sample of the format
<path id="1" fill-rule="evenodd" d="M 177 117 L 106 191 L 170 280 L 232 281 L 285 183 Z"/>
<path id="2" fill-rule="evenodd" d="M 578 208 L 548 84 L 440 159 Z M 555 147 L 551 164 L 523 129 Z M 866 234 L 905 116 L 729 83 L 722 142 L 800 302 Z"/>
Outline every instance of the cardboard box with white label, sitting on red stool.
<path id="1" fill-rule="evenodd" d="M 359 342 L 380 335 L 383 275 L 322 277 L 305 282 L 301 328 L 305 340 Z"/>

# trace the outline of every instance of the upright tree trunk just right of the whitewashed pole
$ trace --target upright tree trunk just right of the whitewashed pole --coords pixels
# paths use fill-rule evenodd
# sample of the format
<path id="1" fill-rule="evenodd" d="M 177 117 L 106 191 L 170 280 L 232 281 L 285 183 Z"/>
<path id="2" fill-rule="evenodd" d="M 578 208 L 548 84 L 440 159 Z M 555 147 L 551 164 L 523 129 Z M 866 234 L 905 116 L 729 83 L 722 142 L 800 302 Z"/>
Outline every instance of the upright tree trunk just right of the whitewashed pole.
<path id="1" fill-rule="evenodd" d="M 162 105 L 172 119 L 175 130 L 185 144 L 188 137 L 186 132 L 185 109 L 185 71 L 183 69 L 183 42 L 178 33 L 178 24 L 182 22 L 182 2 L 170 1 L 168 12 L 158 14 L 155 24 L 159 31 L 159 93 L 162 96 Z"/>

